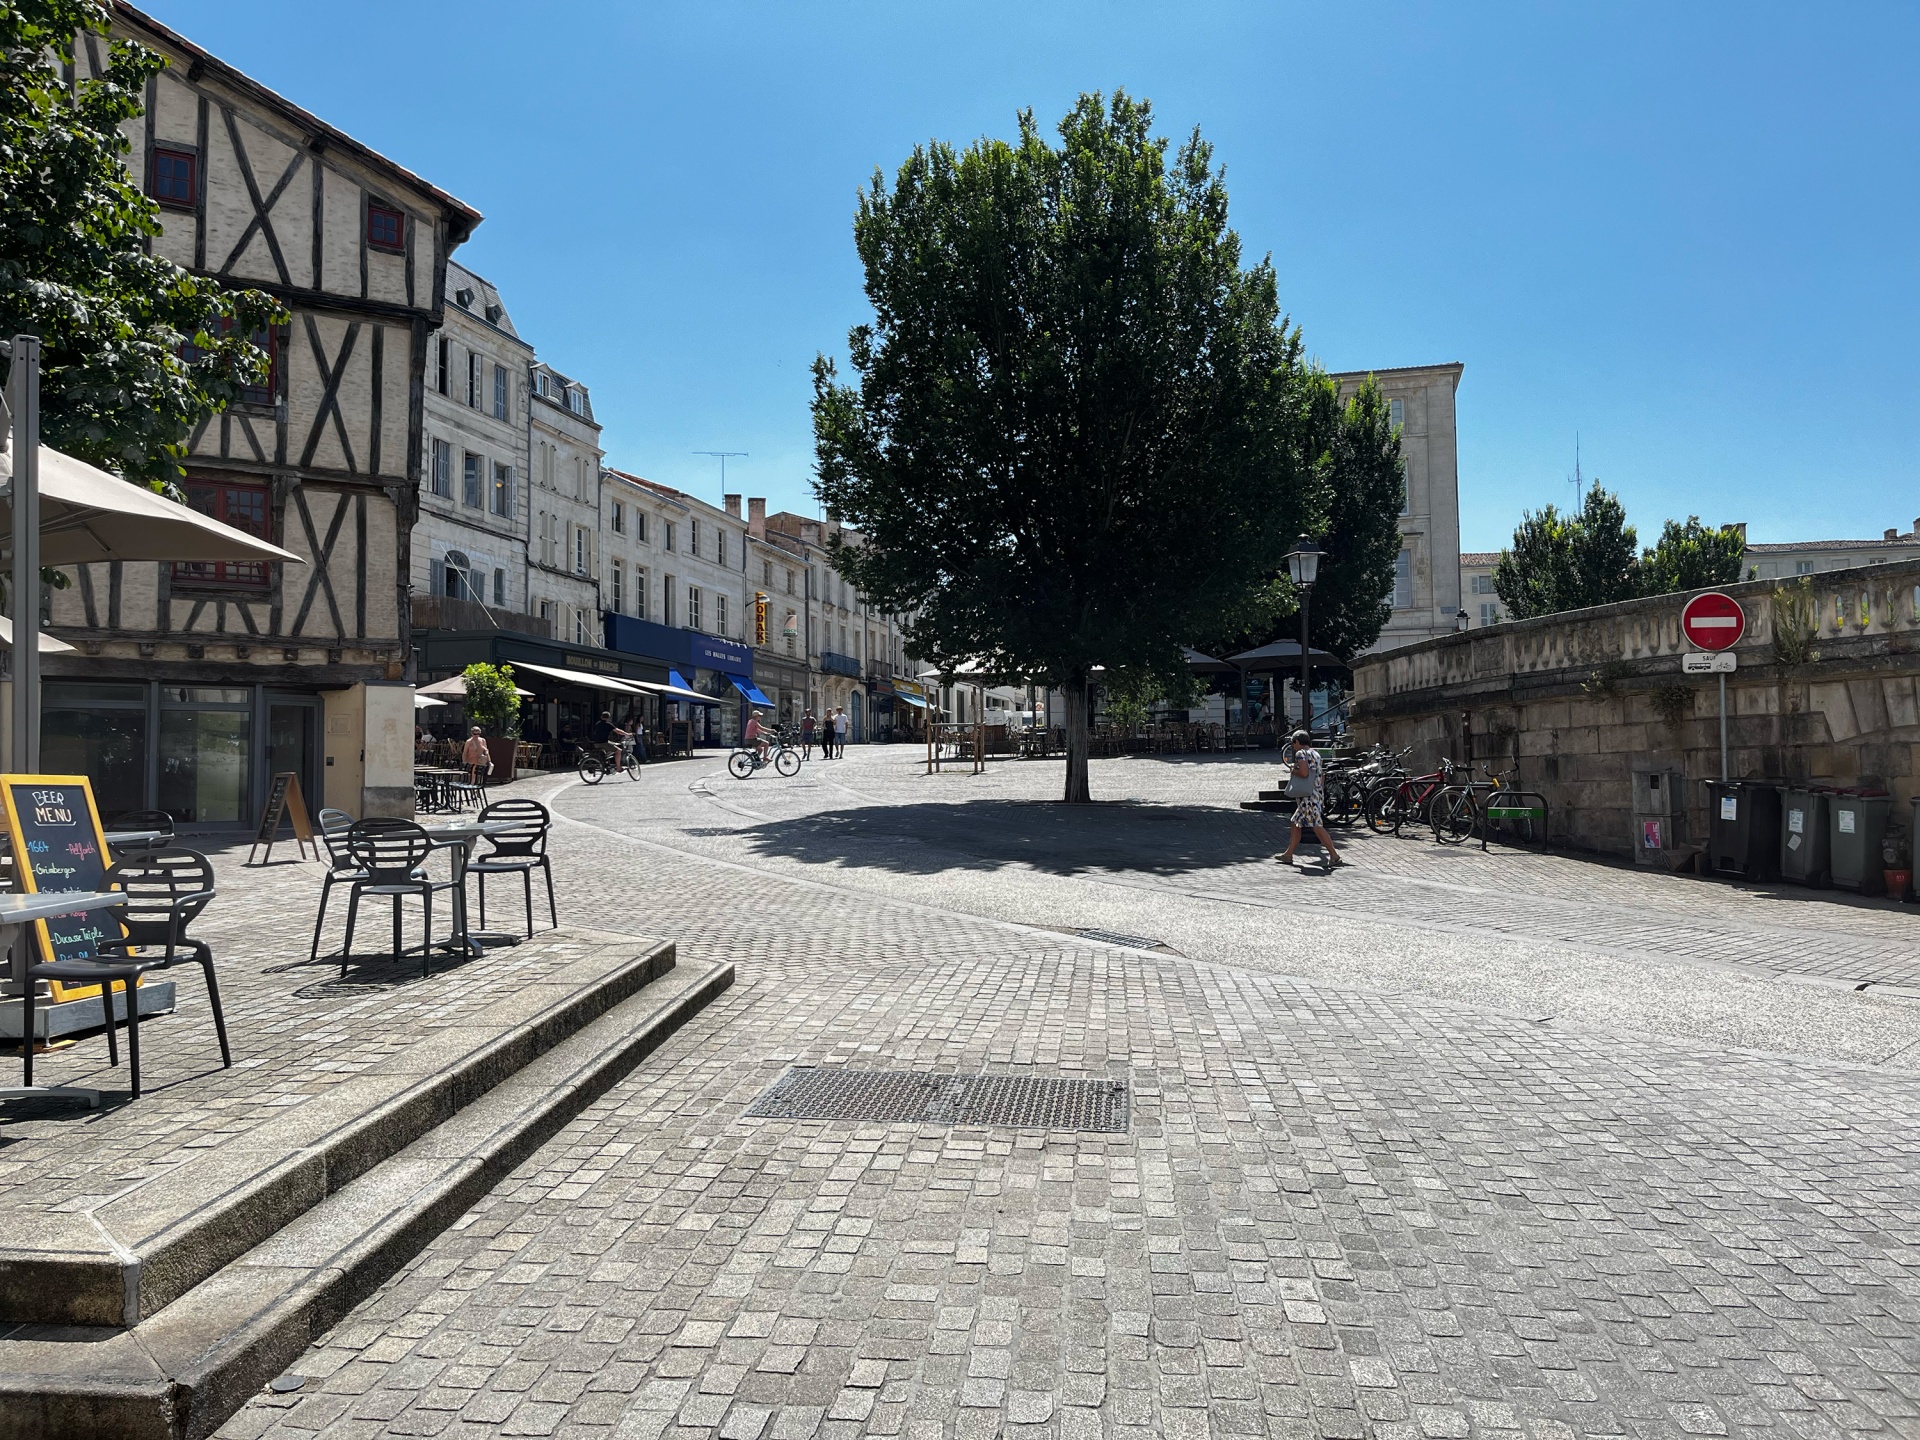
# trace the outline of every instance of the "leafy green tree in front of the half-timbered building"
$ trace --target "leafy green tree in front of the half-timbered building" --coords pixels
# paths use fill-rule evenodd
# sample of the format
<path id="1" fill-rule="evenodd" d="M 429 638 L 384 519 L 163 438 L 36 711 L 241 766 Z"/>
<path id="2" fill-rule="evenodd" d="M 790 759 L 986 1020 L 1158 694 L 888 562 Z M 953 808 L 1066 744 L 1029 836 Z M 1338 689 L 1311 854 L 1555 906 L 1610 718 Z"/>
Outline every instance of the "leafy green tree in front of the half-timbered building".
<path id="1" fill-rule="evenodd" d="M 165 60 L 115 40 L 102 77 L 69 84 L 83 33 L 108 33 L 100 0 L 0 0 L 0 340 L 42 342 L 48 445 L 169 488 L 192 428 L 267 380 L 253 336 L 284 315 L 148 253 L 159 211 L 119 127 Z"/>

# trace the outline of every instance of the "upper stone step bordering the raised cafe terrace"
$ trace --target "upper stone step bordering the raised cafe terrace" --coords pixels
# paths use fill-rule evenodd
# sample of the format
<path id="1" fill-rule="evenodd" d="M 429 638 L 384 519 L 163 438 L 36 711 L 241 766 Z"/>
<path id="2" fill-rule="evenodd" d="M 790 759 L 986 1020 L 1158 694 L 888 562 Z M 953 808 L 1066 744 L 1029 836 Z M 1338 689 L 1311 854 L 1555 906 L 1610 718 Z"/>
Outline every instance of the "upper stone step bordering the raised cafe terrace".
<path id="1" fill-rule="evenodd" d="M 553 933 L 553 931 L 545 931 Z M 564 933 L 564 931 L 561 931 Z M 157 1240 L 121 1246 L 121 1258 L 13 1254 L 0 1260 L 12 1296 L 40 1296 L 46 1309 L 8 1306 L 0 1325 L 138 1325 L 244 1256 L 369 1167 L 457 1116 L 490 1089 L 674 968 L 672 941 L 607 935 L 637 954 L 480 1043 L 447 1069 L 396 1091 L 257 1175 L 200 1206 Z"/>

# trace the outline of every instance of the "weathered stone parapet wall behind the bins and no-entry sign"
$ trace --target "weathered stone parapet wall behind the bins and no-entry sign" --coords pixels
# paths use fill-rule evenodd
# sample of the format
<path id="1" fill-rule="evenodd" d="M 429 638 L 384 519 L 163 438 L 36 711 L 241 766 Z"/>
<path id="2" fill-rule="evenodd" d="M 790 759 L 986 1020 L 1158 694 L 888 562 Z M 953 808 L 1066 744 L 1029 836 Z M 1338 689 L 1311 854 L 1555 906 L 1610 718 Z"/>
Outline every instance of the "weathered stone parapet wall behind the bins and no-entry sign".
<path id="1" fill-rule="evenodd" d="M 1774 643 L 1778 580 L 1720 589 L 1747 612 L 1728 676 L 1728 774 L 1882 785 L 1899 812 L 1920 772 L 1920 563 L 1809 576 L 1816 657 Z M 1507 770 L 1548 795 L 1557 839 L 1632 852 L 1632 770 L 1718 778 L 1715 676 L 1686 676 L 1686 595 L 1605 605 L 1423 641 L 1354 664 L 1354 733 Z M 1705 789 L 1690 785 L 1690 833 Z"/>

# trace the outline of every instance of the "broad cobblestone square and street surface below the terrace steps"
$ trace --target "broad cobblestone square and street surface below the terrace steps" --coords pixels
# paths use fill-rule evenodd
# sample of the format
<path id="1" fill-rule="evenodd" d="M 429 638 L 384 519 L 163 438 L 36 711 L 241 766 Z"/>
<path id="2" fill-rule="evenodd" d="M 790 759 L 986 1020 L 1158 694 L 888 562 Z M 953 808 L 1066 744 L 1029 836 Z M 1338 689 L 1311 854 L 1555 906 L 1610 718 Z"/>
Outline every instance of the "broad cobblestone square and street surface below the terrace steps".
<path id="1" fill-rule="evenodd" d="M 1250 766 L 1100 764 L 1146 803 L 1092 820 L 1044 770 L 528 781 L 574 920 L 739 983 L 223 1434 L 1920 1434 L 1916 1012 L 1644 939 L 1789 900 L 1411 843 L 1273 874 Z M 1791 914 L 1862 958 L 1907 920 Z M 1680 1014 L 1482 1002 L 1636 983 Z M 745 1119 L 795 1064 L 1119 1079 L 1131 1129 Z"/>

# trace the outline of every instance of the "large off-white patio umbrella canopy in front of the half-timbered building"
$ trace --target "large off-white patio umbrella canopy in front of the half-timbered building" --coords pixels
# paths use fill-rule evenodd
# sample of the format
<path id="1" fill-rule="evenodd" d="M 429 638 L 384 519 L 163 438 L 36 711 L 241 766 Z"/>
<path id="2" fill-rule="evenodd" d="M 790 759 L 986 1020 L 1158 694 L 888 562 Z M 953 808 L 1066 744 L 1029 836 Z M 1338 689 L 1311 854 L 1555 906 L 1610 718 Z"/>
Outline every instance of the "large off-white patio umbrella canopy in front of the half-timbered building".
<path id="1" fill-rule="evenodd" d="M 90 561 L 294 561 L 300 555 L 40 445 L 40 564 Z M 12 484 L 13 451 L 0 453 Z M 0 536 L 13 511 L 0 499 Z"/>

